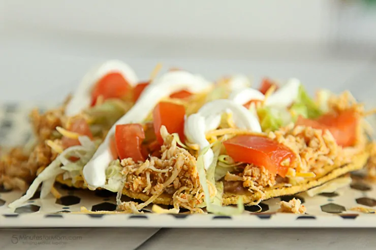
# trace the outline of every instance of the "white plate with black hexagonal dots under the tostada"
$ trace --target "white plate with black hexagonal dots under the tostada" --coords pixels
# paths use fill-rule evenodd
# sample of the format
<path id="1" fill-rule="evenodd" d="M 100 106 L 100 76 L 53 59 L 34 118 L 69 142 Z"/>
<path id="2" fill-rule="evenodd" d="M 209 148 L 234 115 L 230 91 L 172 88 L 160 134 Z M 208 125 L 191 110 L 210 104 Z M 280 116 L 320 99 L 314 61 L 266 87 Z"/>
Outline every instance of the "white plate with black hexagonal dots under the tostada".
<path id="1" fill-rule="evenodd" d="M 0 144 L 17 145 L 30 136 L 28 112 L 30 104 L 6 104 L 0 108 Z M 333 193 L 308 197 L 305 193 L 270 199 L 258 206 L 245 207 L 240 216 L 156 215 L 146 208 L 142 215 L 77 214 L 81 206 L 91 211 L 116 208 L 115 195 L 106 190 L 77 190 L 56 185 L 62 197 L 49 195 L 33 199 L 16 209 L 8 204 L 22 195 L 20 191 L 0 187 L 0 227 L 376 227 L 376 214 L 350 210 L 353 207 L 376 209 L 376 185 L 359 176 L 350 187 Z M 299 198 L 307 208 L 306 215 L 277 213 L 279 201 Z M 124 198 L 126 199 L 126 198 Z"/>

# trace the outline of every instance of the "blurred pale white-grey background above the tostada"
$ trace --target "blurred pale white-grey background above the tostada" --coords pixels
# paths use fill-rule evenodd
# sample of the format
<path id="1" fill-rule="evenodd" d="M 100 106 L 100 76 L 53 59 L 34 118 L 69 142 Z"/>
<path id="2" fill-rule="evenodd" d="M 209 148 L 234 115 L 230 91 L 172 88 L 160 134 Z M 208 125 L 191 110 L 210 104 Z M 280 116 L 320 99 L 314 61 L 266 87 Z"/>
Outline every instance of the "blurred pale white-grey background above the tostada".
<path id="1" fill-rule="evenodd" d="M 61 100 L 106 59 L 141 79 L 162 62 L 212 80 L 297 77 L 308 90 L 346 88 L 369 101 L 376 92 L 374 0 L 0 3 L 1 101 Z"/>

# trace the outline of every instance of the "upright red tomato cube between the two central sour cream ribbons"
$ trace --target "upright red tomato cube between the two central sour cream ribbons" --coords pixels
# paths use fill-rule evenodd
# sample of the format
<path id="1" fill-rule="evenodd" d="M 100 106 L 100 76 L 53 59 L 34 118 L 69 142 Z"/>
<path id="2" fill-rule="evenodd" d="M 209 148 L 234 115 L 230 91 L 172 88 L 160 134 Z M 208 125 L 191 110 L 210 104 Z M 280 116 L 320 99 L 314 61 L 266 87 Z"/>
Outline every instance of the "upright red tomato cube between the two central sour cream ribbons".
<path id="1" fill-rule="evenodd" d="M 154 132 L 159 144 L 163 145 L 163 138 L 160 133 L 162 125 L 167 131 L 178 133 L 180 140 L 184 140 L 184 117 L 185 108 L 183 105 L 172 102 L 160 102 L 153 111 Z"/>

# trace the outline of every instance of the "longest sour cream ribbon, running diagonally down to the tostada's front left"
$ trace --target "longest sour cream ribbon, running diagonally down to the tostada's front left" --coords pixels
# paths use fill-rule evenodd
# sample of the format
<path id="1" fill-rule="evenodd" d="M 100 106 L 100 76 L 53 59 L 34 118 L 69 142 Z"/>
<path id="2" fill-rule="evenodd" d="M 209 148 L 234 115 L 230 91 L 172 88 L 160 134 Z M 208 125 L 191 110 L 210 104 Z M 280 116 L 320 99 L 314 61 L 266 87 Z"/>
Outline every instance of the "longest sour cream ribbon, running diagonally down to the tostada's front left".
<path id="1" fill-rule="evenodd" d="M 103 187 L 106 183 L 106 168 L 112 161 L 109 148 L 109 138 L 115 132 L 118 124 L 142 123 L 158 102 L 170 94 L 187 89 L 192 93 L 202 92 L 212 86 L 201 76 L 192 75 L 183 70 L 166 73 L 160 79 L 151 83 L 142 92 L 138 101 L 110 129 L 104 142 L 99 146 L 93 158 L 84 166 L 83 176 L 90 189 Z M 172 114 L 173 115 L 173 114 Z"/>

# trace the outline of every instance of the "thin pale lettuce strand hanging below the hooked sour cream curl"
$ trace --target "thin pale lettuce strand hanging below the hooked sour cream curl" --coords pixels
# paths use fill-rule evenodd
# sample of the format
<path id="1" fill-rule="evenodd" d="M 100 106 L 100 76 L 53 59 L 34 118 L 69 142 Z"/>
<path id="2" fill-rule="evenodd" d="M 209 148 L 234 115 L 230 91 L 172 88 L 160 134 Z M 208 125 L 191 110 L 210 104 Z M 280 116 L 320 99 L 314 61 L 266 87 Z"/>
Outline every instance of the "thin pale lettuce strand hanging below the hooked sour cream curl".
<path id="1" fill-rule="evenodd" d="M 244 211 L 244 205 L 242 198 L 239 198 L 237 207 L 231 207 L 231 206 L 222 206 L 215 204 L 210 200 L 210 193 L 209 193 L 209 187 L 207 184 L 207 176 L 205 172 L 205 165 L 204 165 L 204 154 L 208 151 L 209 147 L 205 148 L 201 154 L 199 155 L 197 159 L 197 171 L 199 174 L 200 184 L 202 186 L 202 189 L 204 191 L 204 200 L 206 203 L 206 210 L 208 212 L 212 212 L 218 215 L 239 215 Z M 222 200 L 222 197 L 219 197 L 219 194 L 221 193 L 217 190 L 217 198 Z M 214 199 L 215 200 L 215 199 Z M 218 202 L 216 202 L 218 203 Z"/>

